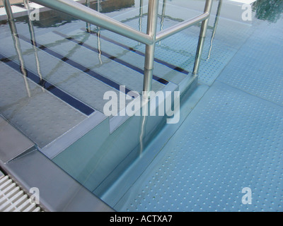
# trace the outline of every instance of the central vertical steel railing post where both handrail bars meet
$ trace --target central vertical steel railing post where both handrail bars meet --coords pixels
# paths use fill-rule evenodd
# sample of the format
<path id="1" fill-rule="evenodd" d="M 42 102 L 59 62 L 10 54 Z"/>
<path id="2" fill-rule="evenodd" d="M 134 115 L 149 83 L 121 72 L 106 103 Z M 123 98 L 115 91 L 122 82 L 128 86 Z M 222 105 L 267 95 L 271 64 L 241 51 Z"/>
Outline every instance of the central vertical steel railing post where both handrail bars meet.
<path id="1" fill-rule="evenodd" d="M 150 35 L 154 43 L 146 44 L 146 53 L 144 59 L 144 92 L 149 97 L 151 91 L 152 77 L 154 73 L 154 50 L 156 43 L 156 27 L 158 18 L 158 0 L 149 1 L 149 10 L 147 17 L 147 35 Z"/>

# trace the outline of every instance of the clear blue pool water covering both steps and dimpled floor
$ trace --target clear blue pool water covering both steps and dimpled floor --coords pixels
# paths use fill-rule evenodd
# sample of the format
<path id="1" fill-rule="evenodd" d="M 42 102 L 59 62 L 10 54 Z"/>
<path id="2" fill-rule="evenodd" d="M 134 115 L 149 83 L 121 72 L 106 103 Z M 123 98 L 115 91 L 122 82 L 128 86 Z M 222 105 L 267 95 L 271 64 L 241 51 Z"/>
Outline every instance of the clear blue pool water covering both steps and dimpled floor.
<path id="1" fill-rule="evenodd" d="M 126 85 L 141 92 L 144 45 L 95 26 L 86 32 L 86 23 L 54 11 L 33 22 L 36 44 L 27 16 L 16 18 L 28 81 L 1 21 L 1 115 L 115 210 L 282 211 L 282 4 L 266 2 L 258 0 L 253 20 L 243 21 L 241 4 L 223 1 L 217 17 L 214 1 L 195 91 L 183 93 L 178 124 L 148 117 L 143 150 L 142 118 L 116 121 L 111 129 L 114 119 L 102 112 L 106 91 Z M 146 30 L 147 1 L 114 10 L 109 3 L 103 13 Z M 160 1 L 166 14 L 158 30 L 196 16 L 203 5 Z M 190 76 L 199 30 L 156 44 L 154 90 L 178 89 Z M 252 204 L 241 201 L 245 187 Z"/>

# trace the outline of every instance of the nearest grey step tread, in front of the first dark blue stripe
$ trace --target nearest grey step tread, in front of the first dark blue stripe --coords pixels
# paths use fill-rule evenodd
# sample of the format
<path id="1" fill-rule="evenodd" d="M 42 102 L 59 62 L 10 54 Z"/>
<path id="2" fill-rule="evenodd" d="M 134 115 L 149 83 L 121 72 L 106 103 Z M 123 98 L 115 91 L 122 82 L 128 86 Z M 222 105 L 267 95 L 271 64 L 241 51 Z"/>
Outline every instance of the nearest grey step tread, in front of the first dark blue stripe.
<path id="1" fill-rule="evenodd" d="M 86 119 L 86 115 L 0 62 L 1 114 L 40 148 Z"/>

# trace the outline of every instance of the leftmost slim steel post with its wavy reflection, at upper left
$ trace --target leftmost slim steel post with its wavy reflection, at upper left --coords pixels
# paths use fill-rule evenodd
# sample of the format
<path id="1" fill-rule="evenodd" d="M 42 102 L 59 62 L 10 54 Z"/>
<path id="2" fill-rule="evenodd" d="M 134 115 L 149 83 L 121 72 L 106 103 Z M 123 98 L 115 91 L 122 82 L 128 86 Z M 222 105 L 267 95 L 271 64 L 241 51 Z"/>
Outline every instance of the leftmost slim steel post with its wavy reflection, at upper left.
<path id="1" fill-rule="evenodd" d="M 10 2 L 8 0 L 4 0 L 4 6 L 5 6 L 6 14 L 7 14 L 7 17 L 8 17 L 8 23 L 9 23 L 9 26 L 10 26 L 11 34 L 12 34 L 12 37 L 13 37 L 13 44 L 15 46 L 16 53 L 17 53 L 17 56 L 18 56 L 18 61 L 19 61 L 20 66 L 21 66 L 21 73 L 23 74 L 23 80 L 25 82 L 25 88 L 27 90 L 28 97 L 30 97 L 31 95 L 30 95 L 30 88 L 29 88 L 28 80 L 27 80 L 27 72 L 25 71 L 25 63 L 23 61 L 23 54 L 21 52 L 21 45 L 20 45 L 20 41 L 18 40 L 18 32 L 17 32 L 15 20 L 13 18 L 13 12 L 12 12 Z"/>

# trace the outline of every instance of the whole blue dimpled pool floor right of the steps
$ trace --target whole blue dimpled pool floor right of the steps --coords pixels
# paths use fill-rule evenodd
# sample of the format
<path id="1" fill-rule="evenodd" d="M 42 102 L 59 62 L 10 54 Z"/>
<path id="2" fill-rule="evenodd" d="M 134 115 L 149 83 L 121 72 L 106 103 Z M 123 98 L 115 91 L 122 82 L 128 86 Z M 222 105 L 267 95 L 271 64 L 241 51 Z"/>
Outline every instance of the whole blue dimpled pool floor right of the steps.
<path id="1" fill-rule="evenodd" d="M 225 42 L 227 32 L 217 29 L 212 64 L 200 67 L 211 87 L 116 210 L 283 210 L 282 20 L 255 21 L 250 31 L 230 56 L 239 40 Z M 227 58 L 222 72 L 217 55 Z M 244 205 L 246 187 L 252 203 Z"/>

